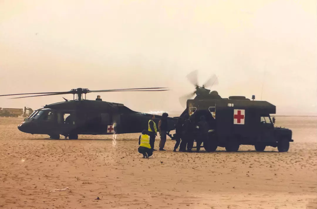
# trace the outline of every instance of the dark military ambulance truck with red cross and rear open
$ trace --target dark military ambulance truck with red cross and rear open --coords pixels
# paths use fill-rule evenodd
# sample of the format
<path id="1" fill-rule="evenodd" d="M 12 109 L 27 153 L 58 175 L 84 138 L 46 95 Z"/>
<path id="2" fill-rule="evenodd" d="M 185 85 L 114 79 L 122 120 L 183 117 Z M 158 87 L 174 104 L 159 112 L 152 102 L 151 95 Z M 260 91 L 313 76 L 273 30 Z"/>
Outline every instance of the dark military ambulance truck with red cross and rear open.
<path id="1" fill-rule="evenodd" d="M 240 145 L 254 145 L 257 151 L 266 146 L 277 147 L 279 152 L 288 151 L 289 142 L 293 142 L 292 131 L 274 127 L 275 117 L 270 114 L 275 114 L 275 106 L 254 99 L 253 95 L 252 100 L 244 96 L 187 100 L 185 111 L 191 121 L 197 124 L 204 115 L 209 124 L 208 140 L 202 144 L 206 151 L 225 147 L 228 152 L 236 152 Z"/>

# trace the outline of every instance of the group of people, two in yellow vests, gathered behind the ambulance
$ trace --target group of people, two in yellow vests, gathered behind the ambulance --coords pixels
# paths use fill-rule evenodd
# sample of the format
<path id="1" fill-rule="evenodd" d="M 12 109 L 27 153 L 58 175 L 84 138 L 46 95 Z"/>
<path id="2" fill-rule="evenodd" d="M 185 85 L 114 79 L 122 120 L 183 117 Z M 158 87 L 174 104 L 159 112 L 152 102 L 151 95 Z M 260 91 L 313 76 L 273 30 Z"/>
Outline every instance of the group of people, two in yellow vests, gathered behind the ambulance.
<path id="1" fill-rule="evenodd" d="M 209 125 L 204 115 L 200 116 L 200 121 L 197 125 L 191 120 L 189 114 L 185 114 L 184 118 L 179 117 L 175 124 L 176 133 L 173 136 L 169 133 L 167 123 L 167 113 L 162 114 L 162 118 L 159 120 L 158 129 L 156 127 L 155 115 L 150 116 L 151 119 L 148 121 L 148 129 L 143 130 L 139 136 L 139 153 L 143 154 L 143 158 L 148 158 L 153 154 L 155 137 L 157 131 L 160 134 L 159 150 L 166 151 L 164 149 L 166 136 L 171 137 L 172 140 L 176 140 L 174 146 L 174 152 L 179 147 L 179 152 L 192 152 L 191 149 L 194 145 L 194 139 L 196 139 L 197 151 L 199 152 L 200 146 L 204 140 L 208 140 Z M 187 150 L 186 150 L 187 148 Z"/>

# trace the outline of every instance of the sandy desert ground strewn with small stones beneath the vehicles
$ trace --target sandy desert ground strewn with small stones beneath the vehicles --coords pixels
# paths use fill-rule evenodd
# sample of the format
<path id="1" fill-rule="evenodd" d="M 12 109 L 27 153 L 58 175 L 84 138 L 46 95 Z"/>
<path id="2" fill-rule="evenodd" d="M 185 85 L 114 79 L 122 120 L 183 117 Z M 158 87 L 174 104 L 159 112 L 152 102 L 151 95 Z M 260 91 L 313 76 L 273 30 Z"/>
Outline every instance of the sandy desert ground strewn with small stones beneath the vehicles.
<path id="1" fill-rule="evenodd" d="M 0 208 L 317 208 L 317 117 L 276 117 L 293 130 L 287 153 L 174 153 L 168 138 L 150 159 L 139 134 L 49 140 L 20 121 L 0 118 Z"/>

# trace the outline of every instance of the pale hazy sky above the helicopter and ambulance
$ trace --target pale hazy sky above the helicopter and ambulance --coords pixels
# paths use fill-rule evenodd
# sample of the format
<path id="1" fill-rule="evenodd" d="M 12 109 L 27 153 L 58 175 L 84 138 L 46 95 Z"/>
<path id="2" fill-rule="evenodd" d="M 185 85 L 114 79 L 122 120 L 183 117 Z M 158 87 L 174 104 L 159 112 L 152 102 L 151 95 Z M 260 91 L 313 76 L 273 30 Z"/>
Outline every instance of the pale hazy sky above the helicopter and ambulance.
<path id="1" fill-rule="evenodd" d="M 99 93 L 137 111 L 183 111 L 178 98 L 218 75 L 222 97 L 267 100 L 277 113 L 316 113 L 316 0 L 0 0 L 0 95 L 169 87 Z M 90 93 L 89 99 L 97 94 Z M 64 95 L 72 99 L 72 95 Z M 9 100 L 40 108 L 62 96 Z"/>

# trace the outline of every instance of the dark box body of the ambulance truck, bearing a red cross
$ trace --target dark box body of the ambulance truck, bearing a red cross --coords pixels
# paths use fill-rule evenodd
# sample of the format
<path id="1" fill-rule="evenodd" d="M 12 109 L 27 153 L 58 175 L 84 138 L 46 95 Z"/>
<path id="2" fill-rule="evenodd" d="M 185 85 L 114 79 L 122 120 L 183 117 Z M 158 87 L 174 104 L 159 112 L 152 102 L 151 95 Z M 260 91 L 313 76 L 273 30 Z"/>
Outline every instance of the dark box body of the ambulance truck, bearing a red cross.
<path id="1" fill-rule="evenodd" d="M 229 105 L 228 105 L 229 104 Z M 273 124 L 261 123 L 261 117 L 275 114 L 275 106 L 267 101 L 222 100 L 216 101 L 217 138 L 220 145 L 230 138 L 237 138 L 240 144 L 253 145 L 257 142 L 274 142 Z M 235 111 L 243 112 L 243 123 L 234 122 Z M 237 115 L 237 114 L 236 114 Z"/>

